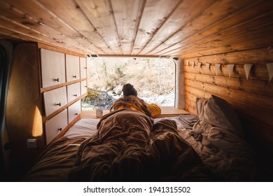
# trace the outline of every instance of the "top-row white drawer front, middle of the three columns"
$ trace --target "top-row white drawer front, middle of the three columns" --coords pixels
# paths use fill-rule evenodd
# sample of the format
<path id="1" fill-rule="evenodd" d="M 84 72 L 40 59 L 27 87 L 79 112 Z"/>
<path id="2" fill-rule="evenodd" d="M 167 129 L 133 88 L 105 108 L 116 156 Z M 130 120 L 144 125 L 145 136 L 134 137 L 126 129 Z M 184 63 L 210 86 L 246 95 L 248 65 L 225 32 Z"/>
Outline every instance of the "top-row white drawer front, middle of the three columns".
<path id="1" fill-rule="evenodd" d="M 66 82 L 80 79 L 80 57 L 65 55 Z"/>

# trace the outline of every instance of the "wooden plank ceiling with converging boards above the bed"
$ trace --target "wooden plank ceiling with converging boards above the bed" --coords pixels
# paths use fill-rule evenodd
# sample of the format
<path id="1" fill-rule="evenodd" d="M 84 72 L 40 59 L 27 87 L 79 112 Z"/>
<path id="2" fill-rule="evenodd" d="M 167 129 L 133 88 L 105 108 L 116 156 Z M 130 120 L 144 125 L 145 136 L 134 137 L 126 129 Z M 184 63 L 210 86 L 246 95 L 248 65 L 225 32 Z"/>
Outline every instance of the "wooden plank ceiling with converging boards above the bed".
<path id="1" fill-rule="evenodd" d="M 266 0 L 0 0 L 0 13 L 0 38 L 92 55 L 197 57 L 273 43 Z"/>

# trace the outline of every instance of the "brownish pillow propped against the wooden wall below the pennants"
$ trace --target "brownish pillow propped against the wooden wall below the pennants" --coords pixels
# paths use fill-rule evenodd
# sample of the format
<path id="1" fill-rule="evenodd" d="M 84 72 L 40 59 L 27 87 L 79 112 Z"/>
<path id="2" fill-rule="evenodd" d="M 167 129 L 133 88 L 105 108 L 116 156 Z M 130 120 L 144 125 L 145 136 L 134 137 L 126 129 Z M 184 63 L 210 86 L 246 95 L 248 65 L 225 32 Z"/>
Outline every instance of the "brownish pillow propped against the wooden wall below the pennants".
<path id="1" fill-rule="evenodd" d="M 209 99 L 197 98 L 196 110 L 197 116 L 200 119 L 243 137 L 244 134 L 239 117 L 234 109 L 232 109 L 232 106 L 224 99 L 215 95 L 211 95 Z"/>

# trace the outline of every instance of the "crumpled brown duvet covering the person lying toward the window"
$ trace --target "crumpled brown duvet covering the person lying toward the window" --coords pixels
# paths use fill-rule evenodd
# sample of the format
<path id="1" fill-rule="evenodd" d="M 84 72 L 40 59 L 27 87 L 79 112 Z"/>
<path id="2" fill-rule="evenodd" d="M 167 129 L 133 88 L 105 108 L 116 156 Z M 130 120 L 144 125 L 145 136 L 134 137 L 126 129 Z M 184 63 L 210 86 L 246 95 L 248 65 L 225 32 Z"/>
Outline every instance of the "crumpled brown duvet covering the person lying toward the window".
<path id="1" fill-rule="evenodd" d="M 80 145 L 69 181 L 211 181 L 173 120 L 154 124 L 121 109 L 103 116 L 97 130 Z"/>

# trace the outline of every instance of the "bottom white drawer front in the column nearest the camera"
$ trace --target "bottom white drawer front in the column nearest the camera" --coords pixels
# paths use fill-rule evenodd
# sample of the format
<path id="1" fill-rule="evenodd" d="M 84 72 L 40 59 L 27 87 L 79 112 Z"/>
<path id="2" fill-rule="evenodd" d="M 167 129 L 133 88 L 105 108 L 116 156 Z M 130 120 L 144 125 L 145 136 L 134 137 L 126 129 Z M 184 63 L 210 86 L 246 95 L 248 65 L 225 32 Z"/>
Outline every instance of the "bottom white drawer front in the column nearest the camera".
<path id="1" fill-rule="evenodd" d="M 49 144 L 67 125 L 67 109 L 45 122 L 46 144 Z"/>

